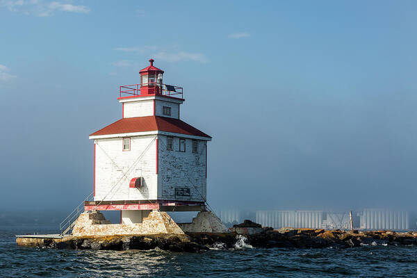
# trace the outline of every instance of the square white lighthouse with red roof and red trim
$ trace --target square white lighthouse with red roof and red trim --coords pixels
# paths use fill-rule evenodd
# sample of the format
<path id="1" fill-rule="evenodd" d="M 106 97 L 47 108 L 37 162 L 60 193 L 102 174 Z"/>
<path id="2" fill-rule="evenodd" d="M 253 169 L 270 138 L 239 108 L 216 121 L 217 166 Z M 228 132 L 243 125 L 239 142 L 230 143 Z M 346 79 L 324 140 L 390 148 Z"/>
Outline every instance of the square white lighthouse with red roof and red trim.
<path id="1" fill-rule="evenodd" d="M 85 211 L 120 211 L 121 224 L 151 211 L 205 211 L 207 143 L 181 120 L 183 88 L 163 83 L 163 70 L 140 70 L 140 83 L 120 86 L 122 118 L 90 134 L 92 201 Z"/>

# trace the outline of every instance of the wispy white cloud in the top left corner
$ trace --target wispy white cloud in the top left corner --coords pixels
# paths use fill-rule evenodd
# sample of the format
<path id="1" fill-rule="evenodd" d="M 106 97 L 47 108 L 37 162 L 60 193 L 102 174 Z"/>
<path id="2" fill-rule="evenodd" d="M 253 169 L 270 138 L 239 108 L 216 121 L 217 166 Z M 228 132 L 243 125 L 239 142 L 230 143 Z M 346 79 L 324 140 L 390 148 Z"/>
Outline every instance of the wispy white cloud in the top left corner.
<path id="1" fill-rule="evenodd" d="M 90 13 L 85 6 L 76 6 L 70 3 L 58 1 L 45 2 L 42 0 L 0 0 L 0 7 L 6 7 L 11 12 L 35 15 L 37 17 L 49 17 L 55 12 Z"/>

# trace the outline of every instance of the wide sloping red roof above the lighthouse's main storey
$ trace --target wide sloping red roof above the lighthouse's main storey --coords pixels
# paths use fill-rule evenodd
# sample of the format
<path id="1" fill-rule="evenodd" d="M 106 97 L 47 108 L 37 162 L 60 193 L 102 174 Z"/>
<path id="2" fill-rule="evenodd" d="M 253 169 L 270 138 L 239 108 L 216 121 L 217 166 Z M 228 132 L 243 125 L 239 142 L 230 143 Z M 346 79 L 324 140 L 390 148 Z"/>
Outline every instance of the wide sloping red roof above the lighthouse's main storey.
<path id="1" fill-rule="evenodd" d="M 108 126 L 90 134 L 90 136 L 110 135 L 120 133 L 133 133 L 145 131 L 166 131 L 181 133 L 192 136 L 211 138 L 206 133 L 199 131 L 190 124 L 172 117 L 146 116 L 146 117 L 124 117 Z"/>

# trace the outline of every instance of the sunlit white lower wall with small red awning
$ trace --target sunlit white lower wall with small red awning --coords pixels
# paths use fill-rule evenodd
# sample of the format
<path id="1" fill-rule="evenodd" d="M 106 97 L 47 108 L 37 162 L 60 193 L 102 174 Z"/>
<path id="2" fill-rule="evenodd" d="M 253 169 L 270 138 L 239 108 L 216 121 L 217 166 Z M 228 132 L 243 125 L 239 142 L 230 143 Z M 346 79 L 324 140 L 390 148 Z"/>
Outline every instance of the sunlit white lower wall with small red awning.
<path id="1" fill-rule="evenodd" d="M 122 138 L 96 140 L 95 201 L 156 199 L 155 137 L 132 137 L 130 151 L 122 151 Z M 144 178 L 142 188 L 129 188 L 134 177 Z"/>

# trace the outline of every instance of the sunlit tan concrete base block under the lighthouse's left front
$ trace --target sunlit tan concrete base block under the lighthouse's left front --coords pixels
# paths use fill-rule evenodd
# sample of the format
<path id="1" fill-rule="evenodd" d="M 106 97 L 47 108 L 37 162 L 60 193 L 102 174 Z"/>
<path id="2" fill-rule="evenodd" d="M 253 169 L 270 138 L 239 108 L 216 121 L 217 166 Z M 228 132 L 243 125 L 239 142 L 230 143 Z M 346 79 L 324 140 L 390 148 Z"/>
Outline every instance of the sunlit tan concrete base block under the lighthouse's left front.
<path id="1" fill-rule="evenodd" d="M 73 236 L 115 236 L 145 234 L 184 234 L 170 215 L 151 211 L 141 223 L 110 224 L 99 211 L 81 213 L 76 220 Z"/>

